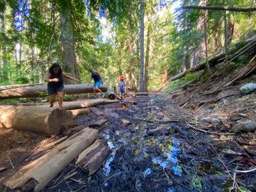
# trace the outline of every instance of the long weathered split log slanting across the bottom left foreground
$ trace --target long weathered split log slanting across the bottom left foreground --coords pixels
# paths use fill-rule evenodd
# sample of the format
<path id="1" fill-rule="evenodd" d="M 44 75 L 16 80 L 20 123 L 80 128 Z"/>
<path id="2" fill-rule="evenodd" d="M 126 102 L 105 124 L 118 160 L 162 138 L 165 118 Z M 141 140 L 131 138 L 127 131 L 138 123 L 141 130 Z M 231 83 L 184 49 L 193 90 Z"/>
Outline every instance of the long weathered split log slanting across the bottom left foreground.
<path id="1" fill-rule="evenodd" d="M 63 141 L 44 156 L 21 168 L 4 183 L 10 189 L 40 191 L 75 157 L 89 147 L 98 132 L 85 128 Z"/>

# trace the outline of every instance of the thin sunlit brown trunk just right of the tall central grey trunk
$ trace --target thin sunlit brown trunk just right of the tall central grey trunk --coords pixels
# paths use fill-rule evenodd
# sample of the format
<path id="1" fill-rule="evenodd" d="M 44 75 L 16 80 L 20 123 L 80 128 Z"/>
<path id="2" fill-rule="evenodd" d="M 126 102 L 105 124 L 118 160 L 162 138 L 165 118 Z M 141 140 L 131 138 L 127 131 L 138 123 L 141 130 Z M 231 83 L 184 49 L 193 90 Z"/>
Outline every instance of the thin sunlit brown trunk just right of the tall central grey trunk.
<path id="1" fill-rule="evenodd" d="M 145 74 L 144 74 L 144 83 L 143 83 L 143 92 L 148 91 L 148 64 L 149 64 L 149 51 L 150 51 L 150 31 L 151 30 L 151 13 L 148 13 L 148 33 L 147 33 L 147 49 L 146 49 L 146 58 L 145 58 Z"/>

